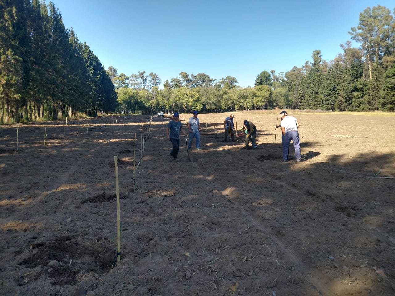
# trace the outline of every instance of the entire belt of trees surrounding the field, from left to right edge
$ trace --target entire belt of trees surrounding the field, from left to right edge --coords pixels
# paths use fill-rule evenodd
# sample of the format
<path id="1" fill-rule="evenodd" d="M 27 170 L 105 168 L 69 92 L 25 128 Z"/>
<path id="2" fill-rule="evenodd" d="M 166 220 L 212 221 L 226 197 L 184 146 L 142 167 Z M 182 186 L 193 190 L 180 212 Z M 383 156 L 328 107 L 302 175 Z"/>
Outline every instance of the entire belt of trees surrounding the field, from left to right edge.
<path id="1" fill-rule="evenodd" d="M 52 2 L 0 0 L 1 123 L 55 119 L 84 112 L 224 112 L 322 109 L 395 111 L 395 18 L 384 6 L 367 7 L 352 40 L 331 62 L 321 51 L 312 62 L 276 75 L 261 71 L 254 87 L 237 86 L 235 77 L 217 81 L 205 73 L 163 83 L 155 73 L 130 76 L 103 69 L 86 43 L 66 30 Z"/>

